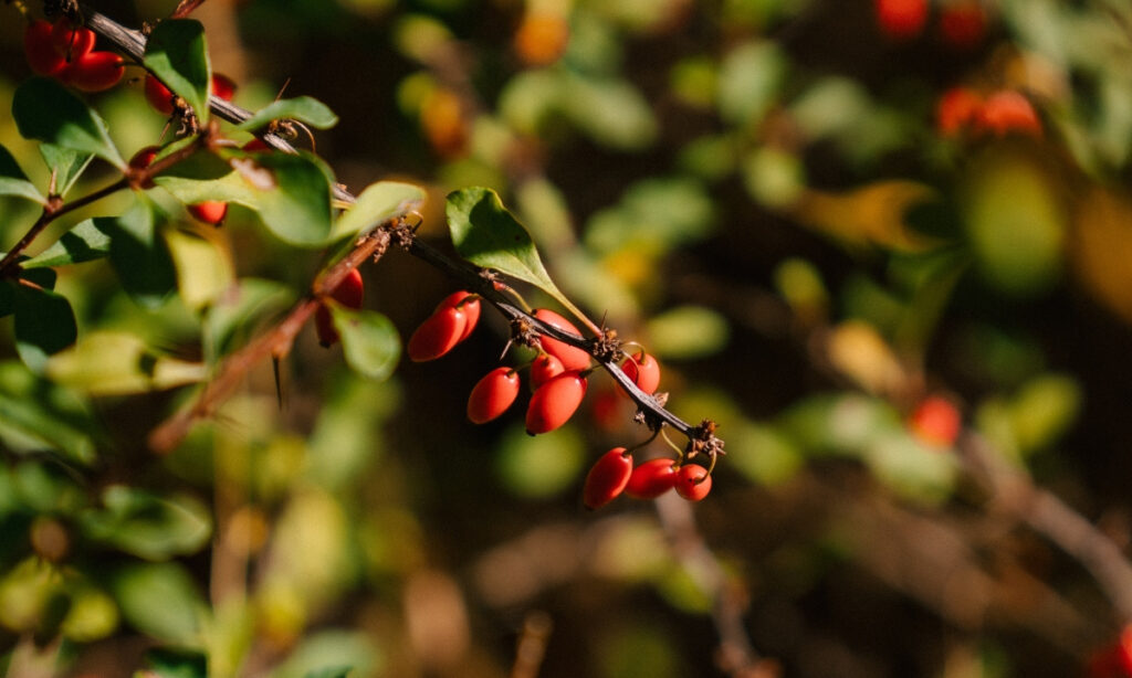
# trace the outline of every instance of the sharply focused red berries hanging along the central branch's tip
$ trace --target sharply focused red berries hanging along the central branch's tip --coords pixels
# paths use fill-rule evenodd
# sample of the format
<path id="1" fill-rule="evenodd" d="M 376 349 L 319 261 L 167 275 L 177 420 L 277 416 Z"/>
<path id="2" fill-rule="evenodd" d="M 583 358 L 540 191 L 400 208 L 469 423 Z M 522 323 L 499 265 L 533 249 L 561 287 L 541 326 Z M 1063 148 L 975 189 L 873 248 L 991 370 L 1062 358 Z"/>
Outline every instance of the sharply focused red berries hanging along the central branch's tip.
<path id="1" fill-rule="evenodd" d="M 455 292 L 436 307 L 409 339 L 409 357 L 414 362 L 431 360 L 447 354 L 468 338 L 480 315 L 479 297 L 469 292 Z M 548 308 L 533 313 L 537 320 L 564 332 L 578 334 L 577 328 Z M 534 340 L 539 355 L 528 367 L 528 379 L 534 390 L 526 407 L 526 433 L 537 435 L 554 431 L 569 420 L 585 398 L 592 371 L 588 351 L 547 334 Z M 660 385 L 660 364 L 644 350 L 628 356 L 621 371 L 641 391 L 653 394 Z M 468 418 L 486 424 L 506 412 L 518 399 L 520 370 L 500 366 L 488 372 L 468 398 Z M 583 502 L 598 508 L 617 496 L 651 499 L 675 489 L 689 501 L 700 501 L 711 490 L 706 468 L 671 459 L 654 459 L 634 468 L 632 451 L 615 447 L 590 469 L 583 489 Z"/>

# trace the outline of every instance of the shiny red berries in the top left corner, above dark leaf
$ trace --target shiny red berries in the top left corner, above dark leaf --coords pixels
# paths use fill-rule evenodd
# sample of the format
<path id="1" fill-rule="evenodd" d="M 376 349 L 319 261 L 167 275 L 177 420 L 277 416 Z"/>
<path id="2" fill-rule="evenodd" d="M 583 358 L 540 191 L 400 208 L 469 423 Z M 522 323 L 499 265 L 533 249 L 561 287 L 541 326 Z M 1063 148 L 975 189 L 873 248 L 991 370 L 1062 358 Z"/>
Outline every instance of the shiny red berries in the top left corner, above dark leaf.
<path id="1" fill-rule="evenodd" d="M 24 31 L 24 54 L 32 70 L 51 76 L 83 92 L 102 92 L 126 72 L 122 58 L 94 49 L 94 32 L 75 26 L 67 17 L 54 24 L 35 19 Z"/>

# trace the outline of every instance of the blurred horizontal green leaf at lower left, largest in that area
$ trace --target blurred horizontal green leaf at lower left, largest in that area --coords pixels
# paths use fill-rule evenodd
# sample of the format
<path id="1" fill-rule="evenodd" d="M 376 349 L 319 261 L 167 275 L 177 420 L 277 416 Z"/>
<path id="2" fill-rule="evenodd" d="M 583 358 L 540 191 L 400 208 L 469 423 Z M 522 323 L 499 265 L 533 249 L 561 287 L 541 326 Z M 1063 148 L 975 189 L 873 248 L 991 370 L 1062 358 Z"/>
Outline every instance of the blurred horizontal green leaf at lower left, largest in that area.
<path id="1" fill-rule="evenodd" d="M 102 508 L 80 519 L 84 534 L 148 560 L 195 554 L 212 537 L 212 519 L 200 502 L 163 498 L 125 485 L 102 493 Z"/>

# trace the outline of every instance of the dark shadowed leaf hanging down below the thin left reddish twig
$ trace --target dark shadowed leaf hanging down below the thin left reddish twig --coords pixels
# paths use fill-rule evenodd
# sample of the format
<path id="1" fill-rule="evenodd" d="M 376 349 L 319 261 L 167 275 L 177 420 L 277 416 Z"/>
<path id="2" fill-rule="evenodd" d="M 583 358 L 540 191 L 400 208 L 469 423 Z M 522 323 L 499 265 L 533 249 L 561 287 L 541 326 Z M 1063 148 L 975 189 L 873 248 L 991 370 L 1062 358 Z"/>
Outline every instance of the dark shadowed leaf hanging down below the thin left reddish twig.
<path id="1" fill-rule="evenodd" d="M 122 287 L 139 306 L 156 308 L 177 289 L 177 271 L 165 242 L 157 237 L 157 207 L 146 199 L 120 217 L 95 217 L 110 237 L 110 263 Z"/>

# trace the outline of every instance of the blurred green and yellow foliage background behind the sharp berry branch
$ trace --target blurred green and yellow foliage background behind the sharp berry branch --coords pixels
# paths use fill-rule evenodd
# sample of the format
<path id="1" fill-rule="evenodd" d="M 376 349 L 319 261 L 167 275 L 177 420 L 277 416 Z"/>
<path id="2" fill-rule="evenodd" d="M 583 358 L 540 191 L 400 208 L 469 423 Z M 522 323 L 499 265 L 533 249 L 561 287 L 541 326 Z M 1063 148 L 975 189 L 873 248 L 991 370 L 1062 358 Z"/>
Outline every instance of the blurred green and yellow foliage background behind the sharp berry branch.
<path id="1" fill-rule="evenodd" d="M 127 26 L 174 5 L 93 3 Z M 441 246 L 443 195 L 498 190 L 567 295 L 661 359 L 670 408 L 727 441 L 694 514 L 711 555 L 671 497 L 581 508 L 592 460 L 645 437 L 607 380 L 549 435 L 464 420 L 498 316 L 380 383 L 305 333 L 282 410 L 264 365 L 151 453 L 188 397 L 171 386 L 318 271 L 233 206 L 205 245 L 170 229 L 175 297 L 139 305 L 105 263 L 59 269 L 79 342 L 42 374 L 0 324 L 0 668 L 533 675 L 523 638 L 544 677 L 740 675 L 722 600 L 786 676 L 1081 675 L 1129 610 L 908 421 L 944 397 L 1127 553 L 1132 9 L 937 0 L 898 35 L 878 5 L 205 2 L 194 17 L 237 103 L 328 104 L 341 122 L 317 151 L 337 180 L 426 185 L 421 233 Z M 980 23 L 958 31 L 947 12 L 971 7 Z M 18 14 L 0 11 L 7 111 L 28 70 Z M 126 157 L 164 125 L 132 75 L 89 98 Z M 950 125 L 955 87 L 1020 94 L 1036 119 Z M 7 115 L 0 142 L 46 185 Z M 111 177 L 95 164 L 72 194 Z M 35 216 L 0 198 L 5 243 Z M 403 337 L 452 286 L 398 252 L 363 273 Z M 201 311 L 200 286 L 237 278 L 242 305 Z"/>

